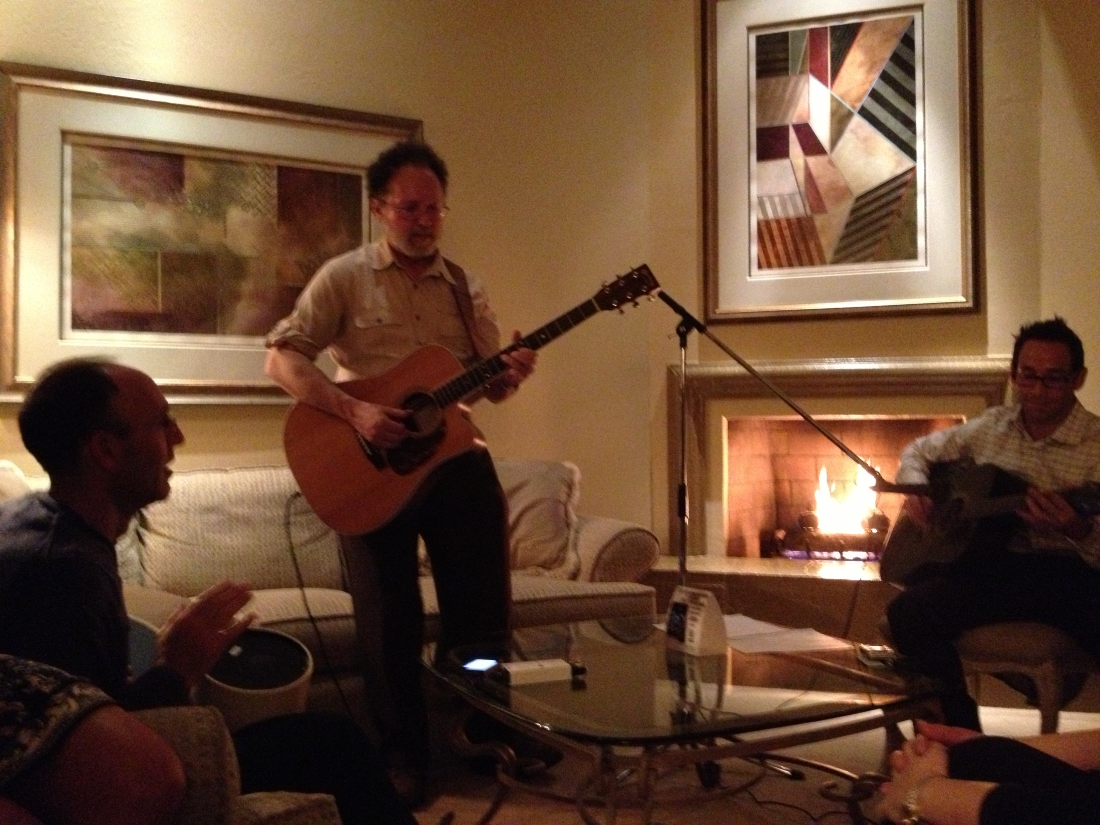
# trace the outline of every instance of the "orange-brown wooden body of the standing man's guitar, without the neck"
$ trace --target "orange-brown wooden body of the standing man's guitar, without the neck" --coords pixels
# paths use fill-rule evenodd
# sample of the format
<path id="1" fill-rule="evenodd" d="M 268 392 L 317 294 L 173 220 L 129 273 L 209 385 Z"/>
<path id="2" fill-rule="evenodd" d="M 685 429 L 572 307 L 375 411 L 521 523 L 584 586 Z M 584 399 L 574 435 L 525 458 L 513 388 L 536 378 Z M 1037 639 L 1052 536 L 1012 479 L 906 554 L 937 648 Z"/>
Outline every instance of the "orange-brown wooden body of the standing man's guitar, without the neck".
<path id="1" fill-rule="evenodd" d="M 342 418 L 297 403 L 287 414 L 286 460 L 309 506 L 333 530 L 376 530 L 409 503 L 427 476 L 448 459 L 483 443 L 466 407 L 422 405 L 431 387 L 462 372 L 443 346 L 431 344 L 370 378 L 342 382 L 360 400 L 414 409 L 420 433 L 393 450 L 377 450 Z"/>

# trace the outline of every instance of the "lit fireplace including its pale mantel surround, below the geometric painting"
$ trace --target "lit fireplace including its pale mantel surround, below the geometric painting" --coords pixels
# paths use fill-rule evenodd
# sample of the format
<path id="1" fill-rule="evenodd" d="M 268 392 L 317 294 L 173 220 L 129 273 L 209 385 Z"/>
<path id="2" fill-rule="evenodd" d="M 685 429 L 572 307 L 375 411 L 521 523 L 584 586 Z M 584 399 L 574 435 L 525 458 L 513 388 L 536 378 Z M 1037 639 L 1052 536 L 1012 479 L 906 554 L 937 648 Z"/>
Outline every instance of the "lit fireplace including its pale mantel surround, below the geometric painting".
<path id="1" fill-rule="evenodd" d="M 893 480 L 902 449 L 1004 398 L 1007 359 L 761 362 L 754 366 L 854 452 Z M 873 529 L 815 531 L 806 514 L 827 476 L 843 498 L 858 465 L 736 364 L 690 364 L 688 550 L 691 556 L 873 560 L 901 496 L 880 495 Z M 669 375 L 670 551 L 678 552 L 680 369 Z M 884 519 L 884 520 L 883 520 Z M 858 524 L 858 519 L 857 519 Z"/>

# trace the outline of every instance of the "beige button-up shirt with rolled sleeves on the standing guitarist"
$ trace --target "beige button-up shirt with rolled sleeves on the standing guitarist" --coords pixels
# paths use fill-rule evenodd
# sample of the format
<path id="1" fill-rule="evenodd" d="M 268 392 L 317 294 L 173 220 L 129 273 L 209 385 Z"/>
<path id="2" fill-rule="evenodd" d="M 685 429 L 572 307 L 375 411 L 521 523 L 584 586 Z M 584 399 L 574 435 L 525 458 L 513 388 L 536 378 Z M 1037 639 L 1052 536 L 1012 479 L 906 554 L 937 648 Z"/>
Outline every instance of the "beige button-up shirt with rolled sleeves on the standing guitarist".
<path id="1" fill-rule="evenodd" d="M 426 344 L 441 344 L 463 365 L 495 353 L 501 330 L 481 282 L 466 274 L 474 341 L 454 298 L 454 279 L 437 254 L 414 280 L 394 263 L 385 239 L 328 261 L 298 296 L 294 311 L 268 333 L 267 346 L 289 346 L 310 361 L 328 350 L 337 381 L 377 375 Z"/>

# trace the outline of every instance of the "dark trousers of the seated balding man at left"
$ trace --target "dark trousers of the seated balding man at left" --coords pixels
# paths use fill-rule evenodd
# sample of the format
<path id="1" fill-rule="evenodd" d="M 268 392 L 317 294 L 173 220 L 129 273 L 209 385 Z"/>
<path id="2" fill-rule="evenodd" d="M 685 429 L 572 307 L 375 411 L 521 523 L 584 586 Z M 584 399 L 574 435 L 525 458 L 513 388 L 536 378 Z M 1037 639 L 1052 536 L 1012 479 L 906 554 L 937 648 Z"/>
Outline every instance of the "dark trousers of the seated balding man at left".
<path id="1" fill-rule="evenodd" d="M 233 745 L 241 793 L 330 793 L 344 825 L 416 825 L 374 746 L 346 716 L 276 716 L 241 728 Z"/>

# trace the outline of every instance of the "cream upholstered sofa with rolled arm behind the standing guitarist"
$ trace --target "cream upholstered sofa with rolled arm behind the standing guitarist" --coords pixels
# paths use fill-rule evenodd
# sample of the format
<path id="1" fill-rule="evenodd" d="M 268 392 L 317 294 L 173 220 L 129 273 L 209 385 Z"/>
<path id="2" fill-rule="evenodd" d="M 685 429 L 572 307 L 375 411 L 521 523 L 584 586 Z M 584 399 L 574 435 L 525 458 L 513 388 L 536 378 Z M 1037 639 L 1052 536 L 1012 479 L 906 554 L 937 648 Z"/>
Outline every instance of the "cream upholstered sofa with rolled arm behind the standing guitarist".
<path id="1" fill-rule="evenodd" d="M 3 464 L 0 496 L 25 488 L 18 469 Z M 496 466 L 510 512 L 516 627 L 652 616 L 653 590 L 636 581 L 659 554 L 652 532 L 578 514 L 580 473 L 570 463 L 497 460 Z M 40 486 L 41 480 L 30 483 Z M 248 582 L 257 624 L 298 638 L 314 656 L 309 706 L 339 710 L 348 702 L 361 716 L 355 628 L 338 538 L 306 504 L 287 468 L 175 473 L 172 495 L 138 514 L 118 554 L 128 610 L 154 626 L 211 584 Z M 430 639 L 439 615 L 431 576 L 424 572 Z"/>

